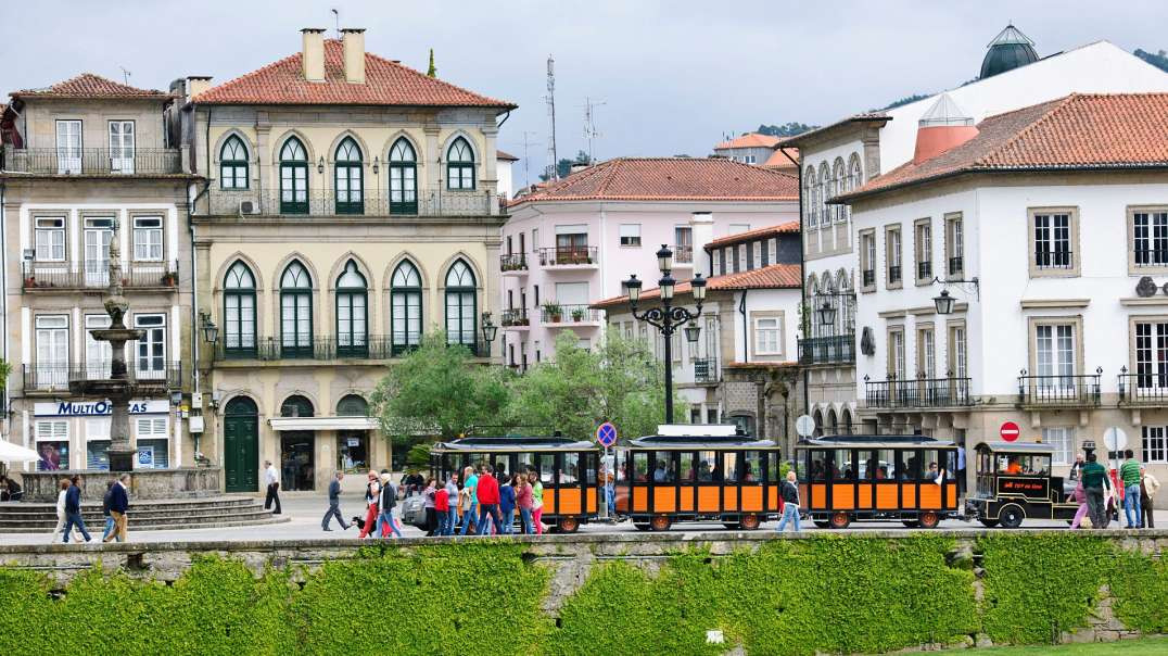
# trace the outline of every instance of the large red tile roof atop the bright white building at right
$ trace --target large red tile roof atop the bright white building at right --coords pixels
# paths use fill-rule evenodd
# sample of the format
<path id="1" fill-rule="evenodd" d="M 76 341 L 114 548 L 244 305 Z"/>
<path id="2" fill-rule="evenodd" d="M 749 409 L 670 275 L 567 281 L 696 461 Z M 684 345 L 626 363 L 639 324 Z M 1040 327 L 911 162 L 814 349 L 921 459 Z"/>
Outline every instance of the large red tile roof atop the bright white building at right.
<path id="1" fill-rule="evenodd" d="M 1168 94 L 1072 94 L 988 117 L 960 146 L 837 199 L 962 173 L 1160 167 L 1168 167 Z"/>

